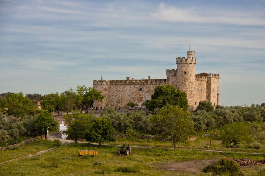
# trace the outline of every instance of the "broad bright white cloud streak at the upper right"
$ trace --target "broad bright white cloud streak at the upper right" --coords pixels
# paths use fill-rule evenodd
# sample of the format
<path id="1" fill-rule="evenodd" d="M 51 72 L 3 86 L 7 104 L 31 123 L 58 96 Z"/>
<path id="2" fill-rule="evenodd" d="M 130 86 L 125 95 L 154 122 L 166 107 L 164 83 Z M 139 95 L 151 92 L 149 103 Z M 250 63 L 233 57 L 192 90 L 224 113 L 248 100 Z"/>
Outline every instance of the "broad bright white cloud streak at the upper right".
<path id="1" fill-rule="evenodd" d="M 183 8 L 168 6 L 165 3 L 161 3 L 157 12 L 151 13 L 151 16 L 158 20 L 175 22 L 265 25 L 264 12 L 242 12 L 236 9 L 231 12 L 209 8 Z"/>

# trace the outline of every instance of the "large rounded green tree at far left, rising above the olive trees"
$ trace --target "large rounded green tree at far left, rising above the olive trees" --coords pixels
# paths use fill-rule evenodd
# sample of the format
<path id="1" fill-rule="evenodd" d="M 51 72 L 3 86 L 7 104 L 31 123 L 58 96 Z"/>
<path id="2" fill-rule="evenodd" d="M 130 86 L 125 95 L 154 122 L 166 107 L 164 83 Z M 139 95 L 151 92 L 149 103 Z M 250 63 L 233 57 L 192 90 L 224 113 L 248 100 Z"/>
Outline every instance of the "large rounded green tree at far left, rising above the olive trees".
<path id="1" fill-rule="evenodd" d="M 23 92 L 7 95 L 6 100 L 2 100 L 0 105 L 3 113 L 17 118 L 34 115 L 37 111 L 37 106 L 26 98 Z"/>

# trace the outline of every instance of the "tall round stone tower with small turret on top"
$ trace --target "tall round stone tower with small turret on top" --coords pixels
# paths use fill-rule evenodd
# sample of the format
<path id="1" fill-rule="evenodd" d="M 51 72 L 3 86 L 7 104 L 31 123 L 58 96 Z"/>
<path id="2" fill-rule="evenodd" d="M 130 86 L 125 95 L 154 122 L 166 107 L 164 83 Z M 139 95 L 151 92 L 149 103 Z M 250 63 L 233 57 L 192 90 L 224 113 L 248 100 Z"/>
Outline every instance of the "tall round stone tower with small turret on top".
<path id="1" fill-rule="evenodd" d="M 187 94 L 188 105 L 192 109 L 197 107 L 195 104 L 195 65 L 196 58 L 194 51 L 188 51 L 187 58 L 177 57 L 177 88 Z"/>

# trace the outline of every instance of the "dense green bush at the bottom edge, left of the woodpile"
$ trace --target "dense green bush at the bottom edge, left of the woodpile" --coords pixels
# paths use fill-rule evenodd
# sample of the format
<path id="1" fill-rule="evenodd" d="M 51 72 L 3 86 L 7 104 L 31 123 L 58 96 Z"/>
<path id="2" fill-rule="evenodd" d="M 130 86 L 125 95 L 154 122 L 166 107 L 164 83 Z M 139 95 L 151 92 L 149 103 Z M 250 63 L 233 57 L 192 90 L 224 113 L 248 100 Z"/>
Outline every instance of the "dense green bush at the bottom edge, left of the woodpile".
<path id="1" fill-rule="evenodd" d="M 212 172 L 212 175 L 233 175 L 243 176 L 240 166 L 233 160 L 220 159 L 213 165 L 208 165 L 202 169 L 202 172 Z"/>

